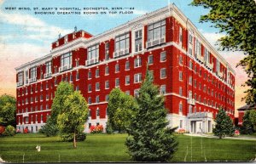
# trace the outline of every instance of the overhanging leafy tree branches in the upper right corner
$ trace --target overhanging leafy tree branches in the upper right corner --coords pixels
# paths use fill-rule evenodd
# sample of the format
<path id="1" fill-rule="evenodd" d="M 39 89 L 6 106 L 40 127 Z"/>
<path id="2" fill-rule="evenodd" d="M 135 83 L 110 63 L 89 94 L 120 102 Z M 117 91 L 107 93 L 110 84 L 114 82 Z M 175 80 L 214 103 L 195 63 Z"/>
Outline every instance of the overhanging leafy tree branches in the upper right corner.
<path id="1" fill-rule="evenodd" d="M 201 22 L 210 21 L 214 27 L 226 35 L 218 40 L 222 50 L 238 50 L 246 54 L 239 65 L 246 71 L 249 87 L 247 104 L 256 103 L 256 3 L 253 0 L 193 0 L 194 6 L 209 8 L 206 15 L 201 15 Z"/>

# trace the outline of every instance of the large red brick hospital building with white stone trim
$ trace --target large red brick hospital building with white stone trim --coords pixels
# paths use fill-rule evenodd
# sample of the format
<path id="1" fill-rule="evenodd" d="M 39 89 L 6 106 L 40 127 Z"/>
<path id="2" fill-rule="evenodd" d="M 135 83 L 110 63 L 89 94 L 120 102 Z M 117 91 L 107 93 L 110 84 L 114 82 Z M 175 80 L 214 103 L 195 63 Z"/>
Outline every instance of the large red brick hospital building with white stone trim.
<path id="1" fill-rule="evenodd" d="M 100 35 L 73 31 L 17 71 L 17 128 L 44 125 L 59 82 L 73 83 L 90 108 L 85 132 L 108 119 L 108 94 L 137 95 L 146 67 L 165 95 L 172 127 L 212 132 L 219 107 L 234 118 L 235 71 L 195 25 L 170 5 Z"/>

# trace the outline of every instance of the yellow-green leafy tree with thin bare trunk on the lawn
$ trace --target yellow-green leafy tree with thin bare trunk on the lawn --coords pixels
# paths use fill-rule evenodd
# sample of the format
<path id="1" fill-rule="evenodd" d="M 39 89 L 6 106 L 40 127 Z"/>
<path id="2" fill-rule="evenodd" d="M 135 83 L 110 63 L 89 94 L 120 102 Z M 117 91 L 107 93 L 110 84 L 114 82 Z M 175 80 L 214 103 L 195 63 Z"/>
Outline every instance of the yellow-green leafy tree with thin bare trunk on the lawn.
<path id="1" fill-rule="evenodd" d="M 57 125 L 61 133 L 73 133 L 73 147 L 76 148 L 76 134 L 82 133 L 84 129 L 84 122 L 88 119 L 88 106 L 83 95 L 75 91 L 67 96 L 63 109 L 57 116 Z"/>

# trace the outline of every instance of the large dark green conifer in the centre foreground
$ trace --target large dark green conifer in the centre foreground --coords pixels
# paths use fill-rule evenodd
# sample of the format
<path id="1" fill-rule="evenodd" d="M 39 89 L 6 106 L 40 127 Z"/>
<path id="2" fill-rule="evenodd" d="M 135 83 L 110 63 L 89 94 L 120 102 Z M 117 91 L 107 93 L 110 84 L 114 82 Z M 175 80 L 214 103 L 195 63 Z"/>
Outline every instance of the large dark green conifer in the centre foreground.
<path id="1" fill-rule="evenodd" d="M 137 110 L 131 117 L 126 146 L 135 161 L 168 161 L 177 150 L 174 128 L 167 127 L 164 97 L 147 71 L 139 91 Z"/>

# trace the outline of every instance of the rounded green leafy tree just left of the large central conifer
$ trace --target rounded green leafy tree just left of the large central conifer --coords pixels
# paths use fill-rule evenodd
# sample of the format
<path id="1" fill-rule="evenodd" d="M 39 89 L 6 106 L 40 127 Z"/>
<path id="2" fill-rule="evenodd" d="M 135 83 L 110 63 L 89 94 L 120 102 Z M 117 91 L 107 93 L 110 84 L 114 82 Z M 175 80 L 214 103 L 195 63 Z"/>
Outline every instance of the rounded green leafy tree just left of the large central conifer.
<path id="1" fill-rule="evenodd" d="M 136 103 L 130 95 L 126 95 L 119 88 L 113 89 L 108 101 L 108 127 L 119 132 L 126 131 L 134 108 Z"/>

